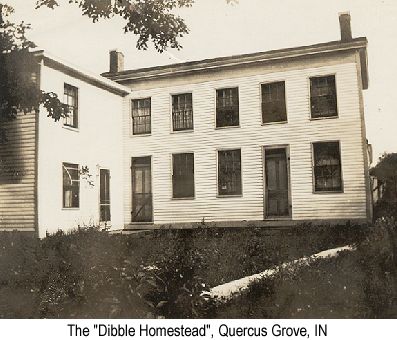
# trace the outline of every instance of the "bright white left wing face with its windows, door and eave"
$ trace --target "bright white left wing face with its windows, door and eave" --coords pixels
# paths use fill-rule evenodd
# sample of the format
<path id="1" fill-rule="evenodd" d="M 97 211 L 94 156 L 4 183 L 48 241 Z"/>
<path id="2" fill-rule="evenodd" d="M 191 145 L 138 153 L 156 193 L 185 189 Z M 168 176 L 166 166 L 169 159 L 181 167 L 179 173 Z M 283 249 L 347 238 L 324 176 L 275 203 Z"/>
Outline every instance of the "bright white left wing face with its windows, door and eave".
<path id="1" fill-rule="evenodd" d="M 70 114 L 54 122 L 40 113 L 40 236 L 85 226 L 121 228 L 120 131 L 126 90 L 46 56 L 41 86 L 58 94 Z"/>

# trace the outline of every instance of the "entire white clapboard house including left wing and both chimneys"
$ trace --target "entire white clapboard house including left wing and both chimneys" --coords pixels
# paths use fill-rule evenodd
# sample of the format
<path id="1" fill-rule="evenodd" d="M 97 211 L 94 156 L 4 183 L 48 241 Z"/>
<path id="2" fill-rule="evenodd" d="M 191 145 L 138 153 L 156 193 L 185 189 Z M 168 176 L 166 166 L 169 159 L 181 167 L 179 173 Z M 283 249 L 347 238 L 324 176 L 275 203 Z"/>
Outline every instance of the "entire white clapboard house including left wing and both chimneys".
<path id="1" fill-rule="evenodd" d="M 111 51 L 102 76 L 36 53 L 71 114 L 9 123 L 0 228 L 370 220 L 367 40 L 339 20 L 338 41 L 167 66 Z"/>

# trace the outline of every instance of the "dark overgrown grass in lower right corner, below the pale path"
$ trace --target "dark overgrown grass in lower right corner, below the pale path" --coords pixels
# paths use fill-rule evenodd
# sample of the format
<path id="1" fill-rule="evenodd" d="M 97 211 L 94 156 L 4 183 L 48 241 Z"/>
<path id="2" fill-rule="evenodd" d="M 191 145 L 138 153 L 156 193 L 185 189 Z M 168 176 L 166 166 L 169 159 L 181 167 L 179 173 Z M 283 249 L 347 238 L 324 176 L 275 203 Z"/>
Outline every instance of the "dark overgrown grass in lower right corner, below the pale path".
<path id="1" fill-rule="evenodd" d="M 217 307 L 219 318 L 396 318 L 397 223 L 383 218 L 357 250 L 280 271 Z"/>

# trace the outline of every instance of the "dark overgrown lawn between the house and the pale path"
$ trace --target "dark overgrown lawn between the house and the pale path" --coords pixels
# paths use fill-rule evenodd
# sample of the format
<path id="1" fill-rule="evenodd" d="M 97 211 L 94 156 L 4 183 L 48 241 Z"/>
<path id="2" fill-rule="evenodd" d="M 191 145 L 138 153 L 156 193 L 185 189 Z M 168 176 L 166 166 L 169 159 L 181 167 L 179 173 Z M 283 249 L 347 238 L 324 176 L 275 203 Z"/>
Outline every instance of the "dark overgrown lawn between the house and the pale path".
<path id="1" fill-rule="evenodd" d="M 262 312 L 259 307 L 254 308 L 251 297 L 258 301 L 291 300 L 298 282 L 308 287 L 306 278 L 315 289 L 316 281 L 311 275 L 302 274 L 288 279 L 280 276 L 274 284 L 264 287 L 258 284 L 259 288 L 252 287 L 244 298 L 246 303 L 239 304 L 240 309 L 233 303 L 217 305 L 207 301 L 201 293 L 284 261 L 362 240 L 368 230 L 366 226 L 349 224 L 302 225 L 283 230 L 203 226 L 126 236 L 85 229 L 67 235 L 58 233 L 43 240 L 21 233 L 2 233 L 0 317 L 255 316 Z M 334 265 L 324 263 L 325 272 L 329 271 L 327 266 Z M 334 269 L 335 277 L 338 270 Z M 323 292 L 319 288 L 320 291 Z M 298 295 L 302 294 L 306 293 L 302 291 Z M 266 306 L 263 313 L 270 317 L 300 317 L 274 308 L 270 302 Z M 295 308 L 291 306 L 291 310 Z"/>

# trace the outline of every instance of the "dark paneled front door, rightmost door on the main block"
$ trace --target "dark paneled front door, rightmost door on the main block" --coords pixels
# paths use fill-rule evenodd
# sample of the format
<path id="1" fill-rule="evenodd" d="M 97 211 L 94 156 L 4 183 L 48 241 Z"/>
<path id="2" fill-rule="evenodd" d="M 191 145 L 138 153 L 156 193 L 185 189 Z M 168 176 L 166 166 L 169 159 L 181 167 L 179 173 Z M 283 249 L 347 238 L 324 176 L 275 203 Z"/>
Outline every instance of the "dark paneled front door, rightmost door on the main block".
<path id="1" fill-rule="evenodd" d="M 265 218 L 289 217 L 287 148 L 265 149 Z"/>

